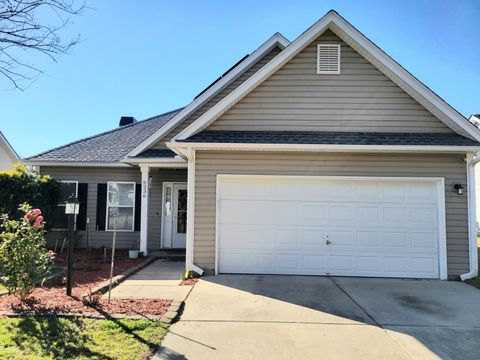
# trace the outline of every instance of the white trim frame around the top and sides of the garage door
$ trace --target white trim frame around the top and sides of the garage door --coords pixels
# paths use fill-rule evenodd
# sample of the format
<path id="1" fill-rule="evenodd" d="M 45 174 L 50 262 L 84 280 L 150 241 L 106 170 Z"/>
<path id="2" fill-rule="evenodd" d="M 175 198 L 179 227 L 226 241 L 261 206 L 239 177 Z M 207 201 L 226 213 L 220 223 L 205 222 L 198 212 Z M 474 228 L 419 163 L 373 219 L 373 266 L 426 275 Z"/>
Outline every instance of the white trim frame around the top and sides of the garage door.
<path id="1" fill-rule="evenodd" d="M 219 234 L 218 224 L 220 216 L 220 184 L 224 179 L 291 179 L 291 180 L 359 180 L 359 181 L 415 181 L 435 182 L 437 192 L 437 225 L 438 225 L 438 264 L 441 280 L 448 278 L 447 268 L 447 237 L 445 220 L 445 180 L 442 177 L 386 177 L 386 176 L 306 176 L 306 175 L 245 175 L 245 174 L 217 174 L 215 199 L 215 274 L 218 274 Z"/>

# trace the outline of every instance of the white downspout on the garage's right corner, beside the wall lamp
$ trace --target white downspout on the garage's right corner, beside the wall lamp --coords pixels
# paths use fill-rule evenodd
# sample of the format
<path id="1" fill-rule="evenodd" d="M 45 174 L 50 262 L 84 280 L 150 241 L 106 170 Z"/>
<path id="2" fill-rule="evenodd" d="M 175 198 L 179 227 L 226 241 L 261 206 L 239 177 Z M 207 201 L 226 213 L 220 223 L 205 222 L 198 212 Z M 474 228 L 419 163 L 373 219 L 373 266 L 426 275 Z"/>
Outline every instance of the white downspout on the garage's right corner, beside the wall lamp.
<path id="1" fill-rule="evenodd" d="M 477 253 L 477 204 L 475 189 L 475 165 L 480 162 L 480 152 L 467 154 L 467 190 L 468 190 L 468 237 L 470 253 L 470 271 L 460 274 L 460 279 L 465 281 L 478 276 L 478 253 Z"/>

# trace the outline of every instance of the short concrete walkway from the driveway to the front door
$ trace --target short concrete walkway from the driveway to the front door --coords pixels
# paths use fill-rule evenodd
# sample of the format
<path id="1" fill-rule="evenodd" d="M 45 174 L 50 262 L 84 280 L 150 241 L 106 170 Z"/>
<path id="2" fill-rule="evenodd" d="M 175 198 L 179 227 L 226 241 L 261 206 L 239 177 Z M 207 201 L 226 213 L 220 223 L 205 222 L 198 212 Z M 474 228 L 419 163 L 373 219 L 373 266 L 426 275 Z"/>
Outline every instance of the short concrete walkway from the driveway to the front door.
<path id="1" fill-rule="evenodd" d="M 184 262 L 157 260 L 112 290 L 112 299 L 170 299 L 183 302 L 191 286 L 178 286 Z M 108 294 L 103 295 L 107 298 Z"/>

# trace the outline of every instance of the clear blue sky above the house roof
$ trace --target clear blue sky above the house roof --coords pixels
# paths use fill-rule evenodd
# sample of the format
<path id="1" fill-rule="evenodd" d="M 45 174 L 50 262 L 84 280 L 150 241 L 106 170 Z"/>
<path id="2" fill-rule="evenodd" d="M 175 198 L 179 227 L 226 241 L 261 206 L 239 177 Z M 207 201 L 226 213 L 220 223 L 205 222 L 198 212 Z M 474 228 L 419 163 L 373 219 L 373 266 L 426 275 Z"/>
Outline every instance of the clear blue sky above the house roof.
<path id="1" fill-rule="evenodd" d="M 480 113 L 480 1 L 89 0 L 82 42 L 24 92 L 0 79 L 0 130 L 20 156 L 186 105 L 279 31 L 335 9 L 464 116 Z M 476 45 L 475 45 L 476 44 Z"/>

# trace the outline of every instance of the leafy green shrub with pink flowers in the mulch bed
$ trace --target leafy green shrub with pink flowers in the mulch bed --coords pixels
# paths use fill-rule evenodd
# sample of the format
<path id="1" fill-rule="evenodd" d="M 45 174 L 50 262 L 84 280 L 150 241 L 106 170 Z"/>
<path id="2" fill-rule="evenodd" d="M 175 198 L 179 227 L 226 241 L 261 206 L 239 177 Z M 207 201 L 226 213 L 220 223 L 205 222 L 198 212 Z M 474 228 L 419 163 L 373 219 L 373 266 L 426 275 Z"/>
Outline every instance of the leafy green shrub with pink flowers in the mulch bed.
<path id="1" fill-rule="evenodd" d="M 35 285 L 45 281 L 54 254 L 46 249 L 41 211 L 28 204 L 19 210 L 23 214 L 19 220 L 1 216 L 0 274 L 7 290 L 25 301 Z"/>

